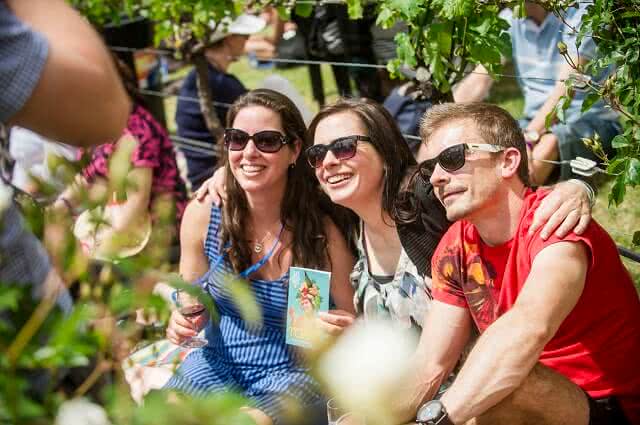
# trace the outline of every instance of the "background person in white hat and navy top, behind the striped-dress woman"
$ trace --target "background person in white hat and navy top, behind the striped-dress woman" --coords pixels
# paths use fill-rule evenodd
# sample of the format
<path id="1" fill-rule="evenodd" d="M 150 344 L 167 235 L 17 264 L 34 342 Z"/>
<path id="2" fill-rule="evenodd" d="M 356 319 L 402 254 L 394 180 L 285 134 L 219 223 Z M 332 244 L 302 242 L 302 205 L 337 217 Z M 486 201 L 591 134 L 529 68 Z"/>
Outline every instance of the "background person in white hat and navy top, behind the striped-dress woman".
<path id="1" fill-rule="evenodd" d="M 260 18 L 241 15 L 229 24 L 226 31 L 216 31 L 210 40 L 211 44 L 205 49 L 209 92 L 220 123 L 225 122 L 228 105 L 235 102 L 247 91 L 240 80 L 227 73 L 227 69 L 244 53 L 249 35 L 261 31 L 264 25 L 265 22 Z M 187 161 L 187 178 L 191 183 L 192 190 L 198 189 L 202 182 L 211 177 L 217 168 L 217 157 L 214 151 L 217 140 L 207 127 L 200 110 L 200 104 L 193 100 L 198 98 L 197 73 L 194 68 L 184 79 L 180 88 L 176 106 L 178 135 L 206 142 L 210 145 L 211 153 L 196 152 L 187 147 L 181 149 Z M 222 125 L 220 130 L 222 130 Z"/>

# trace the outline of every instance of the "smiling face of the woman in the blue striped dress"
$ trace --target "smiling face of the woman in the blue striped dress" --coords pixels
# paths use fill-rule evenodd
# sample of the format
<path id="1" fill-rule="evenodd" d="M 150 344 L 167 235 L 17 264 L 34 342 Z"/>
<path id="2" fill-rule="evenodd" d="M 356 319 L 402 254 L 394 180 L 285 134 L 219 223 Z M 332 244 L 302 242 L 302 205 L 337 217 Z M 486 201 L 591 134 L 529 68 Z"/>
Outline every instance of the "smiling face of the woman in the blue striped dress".
<path id="1" fill-rule="evenodd" d="M 232 127 L 249 135 L 264 130 L 275 130 L 284 134 L 280 115 L 263 106 L 247 106 L 240 109 Z M 231 173 L 247 194 L 281 194 L 287 184 L 287 169 L 290 164 L 295 163 L 300 153 L 300 142 L 283 145 L 278 152 L 265 153 L 259 151 L 251 139 L 243 150 L 229 150 L 228 153 Z"/>

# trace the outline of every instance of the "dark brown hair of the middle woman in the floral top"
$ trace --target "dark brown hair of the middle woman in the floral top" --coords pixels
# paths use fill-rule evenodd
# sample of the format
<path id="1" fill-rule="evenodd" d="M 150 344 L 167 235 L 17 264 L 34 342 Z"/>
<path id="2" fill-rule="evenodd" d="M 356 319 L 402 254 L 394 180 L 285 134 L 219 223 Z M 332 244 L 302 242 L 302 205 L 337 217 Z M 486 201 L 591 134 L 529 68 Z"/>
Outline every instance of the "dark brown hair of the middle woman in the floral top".
<path id="1" fill-rule="evenodd" d="M 330 115 L 350 112 L 355 114 L 366 129 L 366 136 L 383 161 L 382 210 L 396 217 L 396 200 L 403 192 L 402 182 L 407 172 L 416 165 L 416 160 L 404 140 L 402 132 L 389 112 L 379 103 L 369 99 L 340 99 L 327 105 L 313 118 L 307 131 L 309 144 L 318 123 Z"/>

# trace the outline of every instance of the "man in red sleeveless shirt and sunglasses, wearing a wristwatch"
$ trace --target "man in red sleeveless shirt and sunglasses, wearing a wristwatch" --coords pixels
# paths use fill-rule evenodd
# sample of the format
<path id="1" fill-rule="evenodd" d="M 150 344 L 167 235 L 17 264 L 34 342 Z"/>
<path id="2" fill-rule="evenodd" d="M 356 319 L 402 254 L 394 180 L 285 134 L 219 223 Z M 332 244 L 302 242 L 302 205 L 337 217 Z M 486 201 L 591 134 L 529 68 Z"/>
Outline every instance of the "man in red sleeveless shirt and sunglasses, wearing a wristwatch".
<path id="1" fill-rule="evenodd" d="M 433 256 L 399 419 L 434 397 L 475 323 L 464 366 L 419 423 L 640 423 L 640 301 L 609 235 L 594 221 L 580 236 L 530 231 L 547 192 L 528 187 L 522 132 L 499 107 L 434 106 L 421 137 L 421 174 L 455 223 Z"/>

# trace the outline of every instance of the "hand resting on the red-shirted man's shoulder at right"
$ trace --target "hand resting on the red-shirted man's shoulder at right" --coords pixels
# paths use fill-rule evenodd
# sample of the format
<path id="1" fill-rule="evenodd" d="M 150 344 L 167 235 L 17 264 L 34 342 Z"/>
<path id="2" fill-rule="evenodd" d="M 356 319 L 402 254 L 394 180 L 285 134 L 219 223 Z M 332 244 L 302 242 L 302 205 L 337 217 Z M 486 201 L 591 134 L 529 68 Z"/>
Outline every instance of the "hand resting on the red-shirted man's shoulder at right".
<path id="1" fill-rule="evenodd" d="M 533 223 L 529 229 L 535 232 L 544 225 L 540 237 L 547 240 L 552 233 L 563 238 L 573 230 L 577 235 L 582 234 L 591 221 L 591 202 L 587 188 L 580 182 L 566 181 L 558 183 L 545 199 L 533 216 Z"/>

